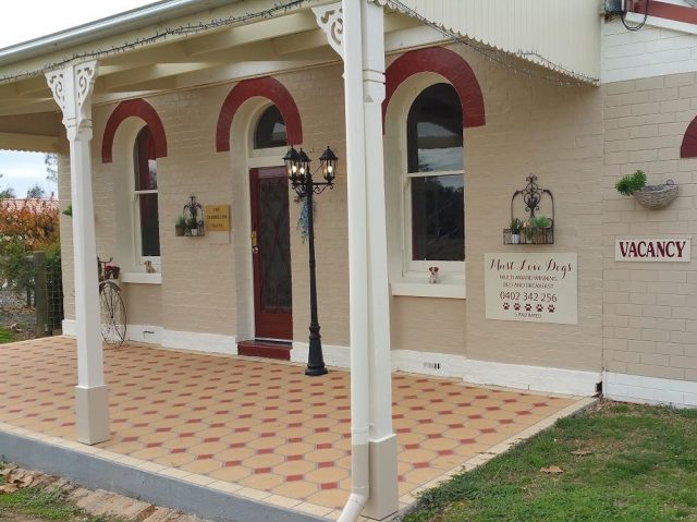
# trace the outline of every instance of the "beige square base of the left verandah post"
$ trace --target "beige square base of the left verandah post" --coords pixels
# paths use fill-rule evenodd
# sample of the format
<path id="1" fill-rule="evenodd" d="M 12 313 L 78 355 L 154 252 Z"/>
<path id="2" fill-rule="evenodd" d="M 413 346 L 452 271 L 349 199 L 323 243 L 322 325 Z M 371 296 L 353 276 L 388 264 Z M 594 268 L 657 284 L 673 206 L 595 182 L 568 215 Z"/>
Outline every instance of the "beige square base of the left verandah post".
<path id="1" fill-rule="evenodd" d="M 77 441 L 86 445 L 103 442 L 111 438 L 109 429 L 109 388 L 95 386 L 75 387 L 75 413 Z"/>

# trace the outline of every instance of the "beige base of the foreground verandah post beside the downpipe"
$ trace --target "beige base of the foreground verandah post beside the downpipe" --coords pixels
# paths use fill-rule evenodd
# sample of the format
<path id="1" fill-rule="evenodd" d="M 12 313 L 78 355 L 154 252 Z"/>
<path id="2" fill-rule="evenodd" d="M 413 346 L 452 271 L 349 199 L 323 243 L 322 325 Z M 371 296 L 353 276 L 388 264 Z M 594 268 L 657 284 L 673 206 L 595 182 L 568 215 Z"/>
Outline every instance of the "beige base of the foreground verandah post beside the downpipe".
<path id="1" fill-rule="evenodd" d="M 364 517 L 382 520 L 400 509 L 396 435 L 370 440 L 370 494 Z"/>

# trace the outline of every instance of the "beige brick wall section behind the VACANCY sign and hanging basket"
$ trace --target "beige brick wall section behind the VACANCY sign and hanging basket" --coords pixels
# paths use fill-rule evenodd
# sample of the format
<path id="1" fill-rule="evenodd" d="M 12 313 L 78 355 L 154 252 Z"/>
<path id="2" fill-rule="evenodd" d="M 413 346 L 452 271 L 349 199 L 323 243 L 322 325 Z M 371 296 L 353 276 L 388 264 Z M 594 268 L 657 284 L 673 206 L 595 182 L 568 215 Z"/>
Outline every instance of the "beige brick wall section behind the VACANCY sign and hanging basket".
<path id="1" fill-rule="evenodd" d="M 692 37 L 696 38 L 696 37 Z M 697 262 L 615 263 L 619 235 L 677 235 L 697 241 L 697 160 L 680 147 L 697 117 L 695 73 L 604 85 L 603 353 L 606 369 L 697 380 Z M 646 171 L 673 179 L 680 196 L 647 210 L 614 190 L 620 177 Z M 680 402 L 680 401 L 678 401 Z"/>

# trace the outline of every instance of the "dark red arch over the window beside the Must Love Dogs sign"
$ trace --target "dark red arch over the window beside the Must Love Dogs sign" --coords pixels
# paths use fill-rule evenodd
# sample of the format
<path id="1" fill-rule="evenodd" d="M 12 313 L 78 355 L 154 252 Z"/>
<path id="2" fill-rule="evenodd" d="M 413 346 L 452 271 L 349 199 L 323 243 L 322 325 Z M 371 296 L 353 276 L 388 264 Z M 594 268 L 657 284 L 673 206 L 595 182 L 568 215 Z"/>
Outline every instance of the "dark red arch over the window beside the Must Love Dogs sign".
<path id="1" fill-rule="evenodd" d="M 436 73 L 455 88 L 462 104 L 464 128 L 482 126 L 486 123 L 481 87 L 469 64 L 456 52 L 442 47 L 430 47 L 405 52 L 386 71 L 386 98 L 382 104 L 382 122 L 390 99 L 402 82 L 417 73 Z M 383 125 L 384 128 L 384 125 Z"/>

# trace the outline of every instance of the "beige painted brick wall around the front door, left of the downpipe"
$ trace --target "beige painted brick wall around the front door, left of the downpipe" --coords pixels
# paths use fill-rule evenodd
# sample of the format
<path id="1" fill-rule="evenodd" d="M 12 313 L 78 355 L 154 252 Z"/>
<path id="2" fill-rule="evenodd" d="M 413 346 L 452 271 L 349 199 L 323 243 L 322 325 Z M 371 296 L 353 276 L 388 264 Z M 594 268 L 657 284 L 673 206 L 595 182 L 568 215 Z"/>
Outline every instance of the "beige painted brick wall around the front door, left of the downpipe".
<path id="1" fill-rule="evenodd" d="M 311 157 L 331 144 L 340 158 L 345 158 L 343 138 L 343 81 L 338 66 L 279 75 L 302 108 L 303 144 Z M 233 172 L 232 155 L 246 154 L 240 136 L 232 136 L 232 153 L 216 153 L 216 122 L 224 97 L 234 83 L 211 88 L 173 93 L 147 98 L 157 110 L 168 139 L 169 154 L 159 158 L 159 217 L 162 254 L 162 286 L 125 284 L 129 319 L 133 324 L 162 326 L 176 331 L 236 333 L 236 281 L 233 263 L 234 234 L 242 234 L 246 244 L 248 231 L 233 222 L 232 241 L 220 242 L 208 235 L 189 239 L 175 238 L 173 224 L 189 194 L 201 204 L 240 204 Z M 133 175 L 129 158 L 132 135 L 120 128 L 113 147 L 113 162 L 101 162 L 101 142 L 106 122 L 114 105 L 93 110 L 93 180 L 97 227 L 98 254 L 119 258 L 119 214 L 114 193 Z M 326 114 L 332 113 L 332 118 Z M 126 120 L 127 122 L 127 120 Z M 125 122 L 124 124 L 125 125 Z M 132 133 L 131 133 L 132 134 Z M 298 145 L 298 144 L 296 144 Z M 345 165 L 345 163 L 344 163 Z M 316 236 L 318 241 L 318 299 L 322 337 L 331 344 L 348 344 L 346 192 L 345 170 L 340 171 L 337 187 L 318 197 Z M 61 157 L 61 205 L 70 202 L 70 165 Z M 307 244 L 302 243 L 295 228 L 299 204 L 291 203 L 291 240 L 293 260 L 293 302 L 295 340 L 306 341 L 309 324 Z M 72 222 L 62 219 L 63 259 L 66 278 L 66 315 L 74 317 L 72 282 Z M 135 267 L 143 271 L 142 267 Z M 133 287 L 133 288 L 132 288 Z M 134 300 L 139 301 L 135 303 Z M 159 309 L 156 309 L 159 308 Z M 331 313 L 329 313 L 331 311 Z M 154 324 L 155 323 L 155 324 Z"/>

